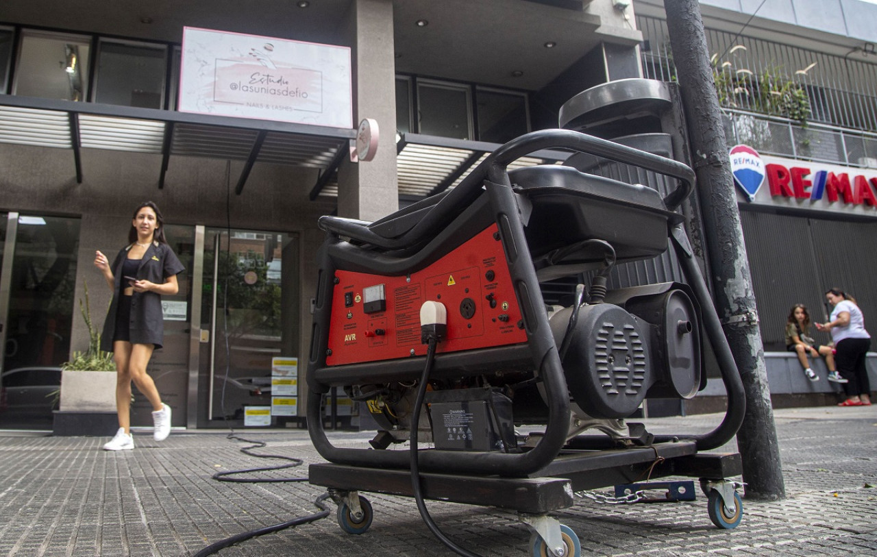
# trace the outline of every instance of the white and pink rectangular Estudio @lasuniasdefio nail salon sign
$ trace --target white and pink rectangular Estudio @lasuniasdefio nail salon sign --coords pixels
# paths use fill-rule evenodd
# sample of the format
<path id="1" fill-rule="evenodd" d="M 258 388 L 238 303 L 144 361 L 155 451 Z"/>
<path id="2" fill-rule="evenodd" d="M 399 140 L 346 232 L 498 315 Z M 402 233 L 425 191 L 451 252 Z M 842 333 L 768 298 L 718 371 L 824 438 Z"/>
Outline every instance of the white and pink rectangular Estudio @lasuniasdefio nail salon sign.
<path id="1" fill-rule="evenodd" d="M 179 111 L 353 127 L 350 48 L 185 27 Z"/>

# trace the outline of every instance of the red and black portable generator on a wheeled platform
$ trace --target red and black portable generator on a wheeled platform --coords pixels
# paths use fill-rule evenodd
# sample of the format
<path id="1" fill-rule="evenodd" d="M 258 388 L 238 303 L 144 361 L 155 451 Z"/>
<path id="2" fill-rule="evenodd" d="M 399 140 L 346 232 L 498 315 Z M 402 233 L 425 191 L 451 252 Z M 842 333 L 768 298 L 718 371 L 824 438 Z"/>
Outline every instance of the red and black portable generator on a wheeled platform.
<path id="1" fill-rule="evenodd" d="M 563 165 L 508 169 L 542 149 L 633 165 L 674 188 L 661 196 Z M 423 499 L 441 499 L 517 511 L 532 554 L 577 555 L 578 537 L 549 513 L 573 505 L 575 492 L 647 474 L 700 478 L 710 518 L 736 526 L 740 484 L 727 478 L 740 474 L 739 455 L 702 451 L 736 434 L 745 398 L 677 212 L 693 185 L 680 162 L 546 130 L 389 217 L 321 218 L 307 416 L 329 462 L 310 467 L 310 482 L 330 489 L 339 525 L 371 524 L 360 491 L 415 496 L 427 525 Z M 684 283 L 607 288 L 615 265 L 668 244 Z M 566 307 L 545 303 L 540 284 L 585 276 Z M 702 336 L 728 394 L 722 423 L 656 436 L 629 422 L 646 398 L 688 399 L 705 386 Z M 374 418 L 370 447 L 329 439 L 323 403 L 333 388 Z"/>

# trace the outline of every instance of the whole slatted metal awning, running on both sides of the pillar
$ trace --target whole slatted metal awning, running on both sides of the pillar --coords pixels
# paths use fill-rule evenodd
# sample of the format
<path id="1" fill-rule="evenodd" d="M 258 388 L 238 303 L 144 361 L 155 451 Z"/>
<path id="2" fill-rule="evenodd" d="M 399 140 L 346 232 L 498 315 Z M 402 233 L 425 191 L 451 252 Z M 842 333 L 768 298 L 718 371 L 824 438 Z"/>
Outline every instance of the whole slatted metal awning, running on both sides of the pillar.
<path id="1" fill-rule="evenodd" d="M 353 129 L 0 95 L 0 143 L 72 149 L 79 183 L 85 147 L 160 154 L 159 188 L 164 188 L 171 155 L 245 161 L 237 194 L 256 162 L 317 168 L 320 176 L 310 191 L 315 200 L 338 196 L 337 170 L 355 137 Z M 456 187 L 500 145 L 402 134 L 396 143 L 400 199 L 422 199 Z M 558 164 L 568 156 L 539 151 L 509 168 Z"/>

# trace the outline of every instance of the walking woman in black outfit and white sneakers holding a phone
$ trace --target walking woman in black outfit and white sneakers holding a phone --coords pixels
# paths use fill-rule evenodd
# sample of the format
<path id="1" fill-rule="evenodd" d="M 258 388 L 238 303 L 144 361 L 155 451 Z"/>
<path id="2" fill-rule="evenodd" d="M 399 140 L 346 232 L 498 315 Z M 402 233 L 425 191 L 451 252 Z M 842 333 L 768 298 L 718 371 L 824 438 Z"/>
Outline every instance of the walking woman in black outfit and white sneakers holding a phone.
<path id="1" fill-rule="evenodd" d="M 170 407 L 161 402 L 153 378 L 146 374 L 146 366 L 163 342 L 161 295 L 177 293 L 176 275 L 183 267 L 168 246 L 164 218 L 151 201 L 134 211 L 128 241 L 129 245 L 119 251 L 112 265 L 99 251 L 95 257 L 95 266 L 113 292 L 101 337 L 101 349 L 113 353 L 118 373 L 119 429 L 103 446 L 108 451 L 134 448 L 130 415 L 132 382 L 153 405 L 154 438 L 164 440 L 170 432 Z"/>

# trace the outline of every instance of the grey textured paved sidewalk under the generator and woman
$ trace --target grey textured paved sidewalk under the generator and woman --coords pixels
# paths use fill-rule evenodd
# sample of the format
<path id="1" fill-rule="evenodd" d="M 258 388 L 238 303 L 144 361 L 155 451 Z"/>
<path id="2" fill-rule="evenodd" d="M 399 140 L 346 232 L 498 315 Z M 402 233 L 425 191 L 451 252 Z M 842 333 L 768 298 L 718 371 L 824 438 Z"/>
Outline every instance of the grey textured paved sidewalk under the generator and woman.
<path id="1" fill-rule="evenodd" d="M 745 501 L 731 531 L 709 521 L 706 499 L 607 505 L 588 499 L 554 514 L 583 555 L 877 554 L 877 405 L 775 411 L 788 498 Z M 718 415 L 646 420 L 655 433 L 708 431 Z M 162 443 L 135 434 L 134 451 L 108 439 L 0 437 L 0 555 L 193 555 L 220 539 L 316 511 L 323 489 L 307 482 L 227 483 L 216 471 L 271 466 L 239 451 L 227 432 L 174 432 Z M 3 435 L 3 433 L 0 433 Z M 307 432 L 239 432 L 267 441 L 257 453 L 322 461 Z M 339 433 L 363 444 L 367 434 Z M 726 446 L 725 451 L 736 450 Z M 307 468 L 279 473 L 306 475 Z M 610 490 L 605 491 L 607 494 Z M 360 536 L 332 516 L 221 550 L 221 556 L 451 555 L 421 521 L 413 499 L 366 494 L 374 523 Z M 530 533 L 513 513 L 428 502 L 439 527 L 479 555 L 528 556 Z"/>

